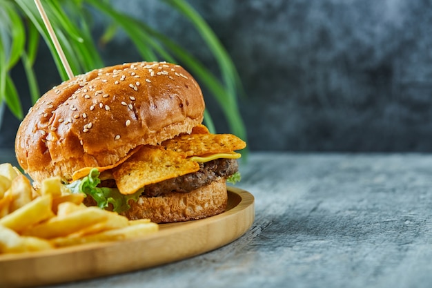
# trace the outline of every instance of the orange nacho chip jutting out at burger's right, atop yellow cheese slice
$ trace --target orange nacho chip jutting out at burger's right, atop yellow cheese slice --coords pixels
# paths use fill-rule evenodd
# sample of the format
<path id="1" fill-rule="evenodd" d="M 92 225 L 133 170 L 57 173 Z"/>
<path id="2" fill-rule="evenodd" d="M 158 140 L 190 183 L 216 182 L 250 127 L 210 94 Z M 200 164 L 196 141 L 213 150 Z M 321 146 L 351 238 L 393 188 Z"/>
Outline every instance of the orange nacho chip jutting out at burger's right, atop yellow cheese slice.
<path id="1" fill-rule="evenodd" d="M 161 146 L 186 156 L 200 156 L 243 149 L 246 142 L 232 134 L 185 134 L 166 140 Z"/>

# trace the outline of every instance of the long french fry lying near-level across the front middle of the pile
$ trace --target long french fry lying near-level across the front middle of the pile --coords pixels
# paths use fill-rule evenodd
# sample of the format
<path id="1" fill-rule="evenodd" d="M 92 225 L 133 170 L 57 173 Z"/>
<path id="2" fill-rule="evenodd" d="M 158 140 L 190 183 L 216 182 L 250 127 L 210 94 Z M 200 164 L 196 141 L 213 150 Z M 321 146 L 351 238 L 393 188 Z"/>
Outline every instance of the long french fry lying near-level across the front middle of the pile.
<path id="1" fill-rule="evenodd" d="M 97 222 L 106 221 L 107 218 L 104 210 L 96 207 L 87 207 L 85 209 L 73 211 L 68 215 L 64 215 L 64 217 L 51 218 L 35 227 L 26 229 L 22 234 L 45 239 L 64 237 Z"/>

